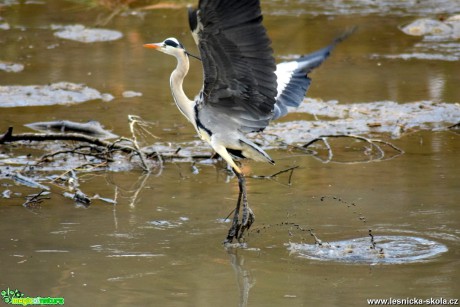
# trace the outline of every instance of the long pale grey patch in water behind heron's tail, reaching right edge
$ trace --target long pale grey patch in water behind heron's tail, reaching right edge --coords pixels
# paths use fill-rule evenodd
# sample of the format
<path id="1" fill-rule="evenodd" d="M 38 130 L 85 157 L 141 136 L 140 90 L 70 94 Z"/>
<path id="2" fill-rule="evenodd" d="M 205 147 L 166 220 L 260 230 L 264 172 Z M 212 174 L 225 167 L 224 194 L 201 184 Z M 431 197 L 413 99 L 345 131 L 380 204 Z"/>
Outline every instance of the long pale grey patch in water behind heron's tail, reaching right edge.
<path id="1" fill-rule="evenodd" d="M 457 123 L 460 118 L 460 104 L 433 101 L 340 104 L 338 101 L 306 98 L 292 112 L 321 118 L 270 125 L 265 130 L 264 138 L 257 141 L 269 147 L 276 140 L 283 140 L 286 144 L 299 144 L 331 134 L 390 133 L 393 138 L 399 138 L 401 132 L 411 129 L 442 129 Z"/>

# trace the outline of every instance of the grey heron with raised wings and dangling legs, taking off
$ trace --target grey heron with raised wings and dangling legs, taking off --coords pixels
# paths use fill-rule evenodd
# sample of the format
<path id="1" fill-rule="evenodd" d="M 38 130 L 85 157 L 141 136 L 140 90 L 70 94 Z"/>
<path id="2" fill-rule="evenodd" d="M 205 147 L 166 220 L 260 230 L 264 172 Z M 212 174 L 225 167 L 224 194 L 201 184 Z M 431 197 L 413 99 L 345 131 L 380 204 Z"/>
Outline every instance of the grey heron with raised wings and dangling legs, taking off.
<path id="1" fill-rule="evenodd" d="M 245 177 L 235 160 L 274 164 L 246 134 L 264 130 L 271 120 L 285 115 L 288 107 L 297 107 L 310 85 L 307 74 L 347 35 L 314 53 L 276 65 L 259 0 L 200 0 L 198 8 L 189 9 L 189 23 L 201 58 L 190 54 L 176 38 L 144 47 L 177 59 L 170 77 L 177 107 L 238 177 L 238 201 L 225 240 L 231 243 L 240 241 L 254 222 Z M 203 88 L 193 100 L 182 88 L 191 56 L 202 61 L 204 71 Z"/>

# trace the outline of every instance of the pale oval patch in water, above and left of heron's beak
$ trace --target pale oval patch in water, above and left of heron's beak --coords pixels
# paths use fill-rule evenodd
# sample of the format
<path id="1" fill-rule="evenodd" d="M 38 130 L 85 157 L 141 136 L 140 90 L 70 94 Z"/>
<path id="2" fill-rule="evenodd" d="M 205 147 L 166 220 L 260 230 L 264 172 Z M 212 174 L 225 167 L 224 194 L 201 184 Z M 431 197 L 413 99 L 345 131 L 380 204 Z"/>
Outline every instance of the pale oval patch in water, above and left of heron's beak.
<path id="1" fill-rule="evenodd" d="M 90 29 L 83 25 L 70 26 L 52 26 L 53 30 L 59 30 L 54 33 L 55 36 L 63 39 L 69 39 L 82 43 L 94 43 L 113 41 L 123 37 L 123 34 L 115 30 L 107 29 Z"/>

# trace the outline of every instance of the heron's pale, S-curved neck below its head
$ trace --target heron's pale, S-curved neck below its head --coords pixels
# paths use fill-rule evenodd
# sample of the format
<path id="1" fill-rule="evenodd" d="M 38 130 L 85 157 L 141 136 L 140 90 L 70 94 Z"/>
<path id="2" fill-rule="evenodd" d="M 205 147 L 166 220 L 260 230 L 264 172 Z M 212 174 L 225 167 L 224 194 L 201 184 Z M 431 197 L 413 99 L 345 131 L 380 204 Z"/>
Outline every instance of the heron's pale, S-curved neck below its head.
<path id="1" fill-rule="evenodd" d="M 188 99 L 187 95 L 184 93 L 182 84 L 185 76 L 188 73 L 189 69 L 189 59 L 188 56 L 181 52 L 176 54 L 177 66 L 176 69 L 171 73 L 171 78 L 169 79 L 171 85 L 171 92 L 174 98 L 174 102 L 181 111 L 181 113 L 192 123 L 194 124 L 194 102 Z"/>

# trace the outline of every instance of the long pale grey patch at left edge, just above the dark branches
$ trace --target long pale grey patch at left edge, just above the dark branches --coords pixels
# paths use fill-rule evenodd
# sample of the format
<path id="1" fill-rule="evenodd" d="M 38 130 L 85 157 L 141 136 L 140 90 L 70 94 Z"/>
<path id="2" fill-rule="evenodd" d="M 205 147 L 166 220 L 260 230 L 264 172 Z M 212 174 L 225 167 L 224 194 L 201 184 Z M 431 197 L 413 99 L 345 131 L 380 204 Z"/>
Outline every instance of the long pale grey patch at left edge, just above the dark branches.
<path id="1" fill-rule="evenodd" d="M 0 108 L 74 104 L 95 99 L 110 101 L 113 98 L 86 85 L 70 82 L 0 86 Z"/>

